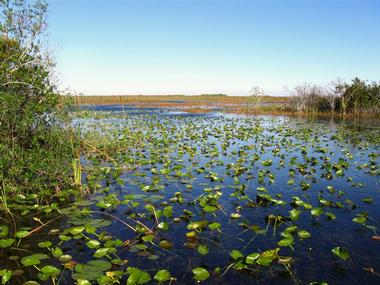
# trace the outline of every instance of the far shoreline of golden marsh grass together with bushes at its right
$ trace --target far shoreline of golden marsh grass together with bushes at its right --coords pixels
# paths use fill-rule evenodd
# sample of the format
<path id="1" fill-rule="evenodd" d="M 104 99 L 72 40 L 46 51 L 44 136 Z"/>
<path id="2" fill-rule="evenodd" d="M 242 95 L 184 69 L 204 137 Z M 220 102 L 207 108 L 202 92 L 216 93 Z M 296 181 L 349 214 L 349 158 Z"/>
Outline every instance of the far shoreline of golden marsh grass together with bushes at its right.
<path id="1" fill-rule="evenodd" d="M 253 89 L 257 89 L 253 88 Z M 252 92 L 251 92 L 252 93 Z M 221 111 L 242 115 L 379 117 L 380 85 L 355 78 L 351 83 L 338 79 L 328 87 L 302 83 L 290 96 L 200 95 L 79 95 L 76 105 L 129 105 L 136 108 L 180 109 L 188 113 Z"/>

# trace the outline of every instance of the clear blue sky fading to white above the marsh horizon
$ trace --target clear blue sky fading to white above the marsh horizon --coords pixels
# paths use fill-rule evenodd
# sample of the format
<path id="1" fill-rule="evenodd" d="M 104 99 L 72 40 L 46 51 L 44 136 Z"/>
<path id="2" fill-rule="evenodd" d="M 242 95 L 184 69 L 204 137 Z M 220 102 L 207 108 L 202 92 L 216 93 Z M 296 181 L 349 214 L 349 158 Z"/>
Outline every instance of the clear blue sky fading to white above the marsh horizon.
<path id="1" fill-rule="evenodd" d="M 285 95 L 380 80 L 379 0 L 49 0 L 60 88 Z"/>

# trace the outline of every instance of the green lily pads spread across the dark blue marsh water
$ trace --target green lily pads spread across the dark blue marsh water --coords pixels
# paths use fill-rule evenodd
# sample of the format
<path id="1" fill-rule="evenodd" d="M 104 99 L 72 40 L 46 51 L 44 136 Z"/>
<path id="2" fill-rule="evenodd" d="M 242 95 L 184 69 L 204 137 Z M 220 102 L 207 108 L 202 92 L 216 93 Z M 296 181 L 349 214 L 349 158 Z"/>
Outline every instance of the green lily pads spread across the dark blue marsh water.
<path id="1" fill-rule="evenodd" d="M 120 113 L 76 124 L 81 185 L 10 202 L 2 284 L 326 284 L 336 267 L 380 266 L 379 128 Z"/>

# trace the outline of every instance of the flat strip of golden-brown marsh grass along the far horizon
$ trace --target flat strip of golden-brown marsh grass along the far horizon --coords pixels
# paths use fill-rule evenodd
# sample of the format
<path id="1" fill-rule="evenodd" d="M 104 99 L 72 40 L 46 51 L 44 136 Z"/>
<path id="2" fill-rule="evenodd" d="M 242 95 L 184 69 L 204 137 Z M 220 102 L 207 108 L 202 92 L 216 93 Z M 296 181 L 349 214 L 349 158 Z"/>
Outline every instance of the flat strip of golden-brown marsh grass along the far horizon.
<path id="1" fill-rule="evenodd" d="M 255 101 L 250 96 L 210 95 L 82 95 L 72 96 L 75 105 L 130 105 L 137 108 L 181 109 L 188 113 L 222 111 L 243 115 L 286 115 L 344 118 L 379 118 L 374 113 L 298 112 L 290 108 L 289 96 L 260 96 Z M 257 100 L 257 98 L 256 98 Z"/>

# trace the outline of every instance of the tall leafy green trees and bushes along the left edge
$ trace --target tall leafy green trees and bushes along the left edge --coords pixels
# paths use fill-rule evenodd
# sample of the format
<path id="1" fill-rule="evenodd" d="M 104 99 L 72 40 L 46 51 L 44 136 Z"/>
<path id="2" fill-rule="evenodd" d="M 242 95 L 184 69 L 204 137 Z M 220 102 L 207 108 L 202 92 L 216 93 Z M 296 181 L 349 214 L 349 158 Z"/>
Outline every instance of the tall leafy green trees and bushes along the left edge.
<path id="1" fill-rule="evenodd" d="M 59 189 L 69 177 L 70 136 L 58 120 L 54 65 L 41 43 L 46 9 L 44 1 L 0 1 L 3 206 L 16 193 Z"/>

